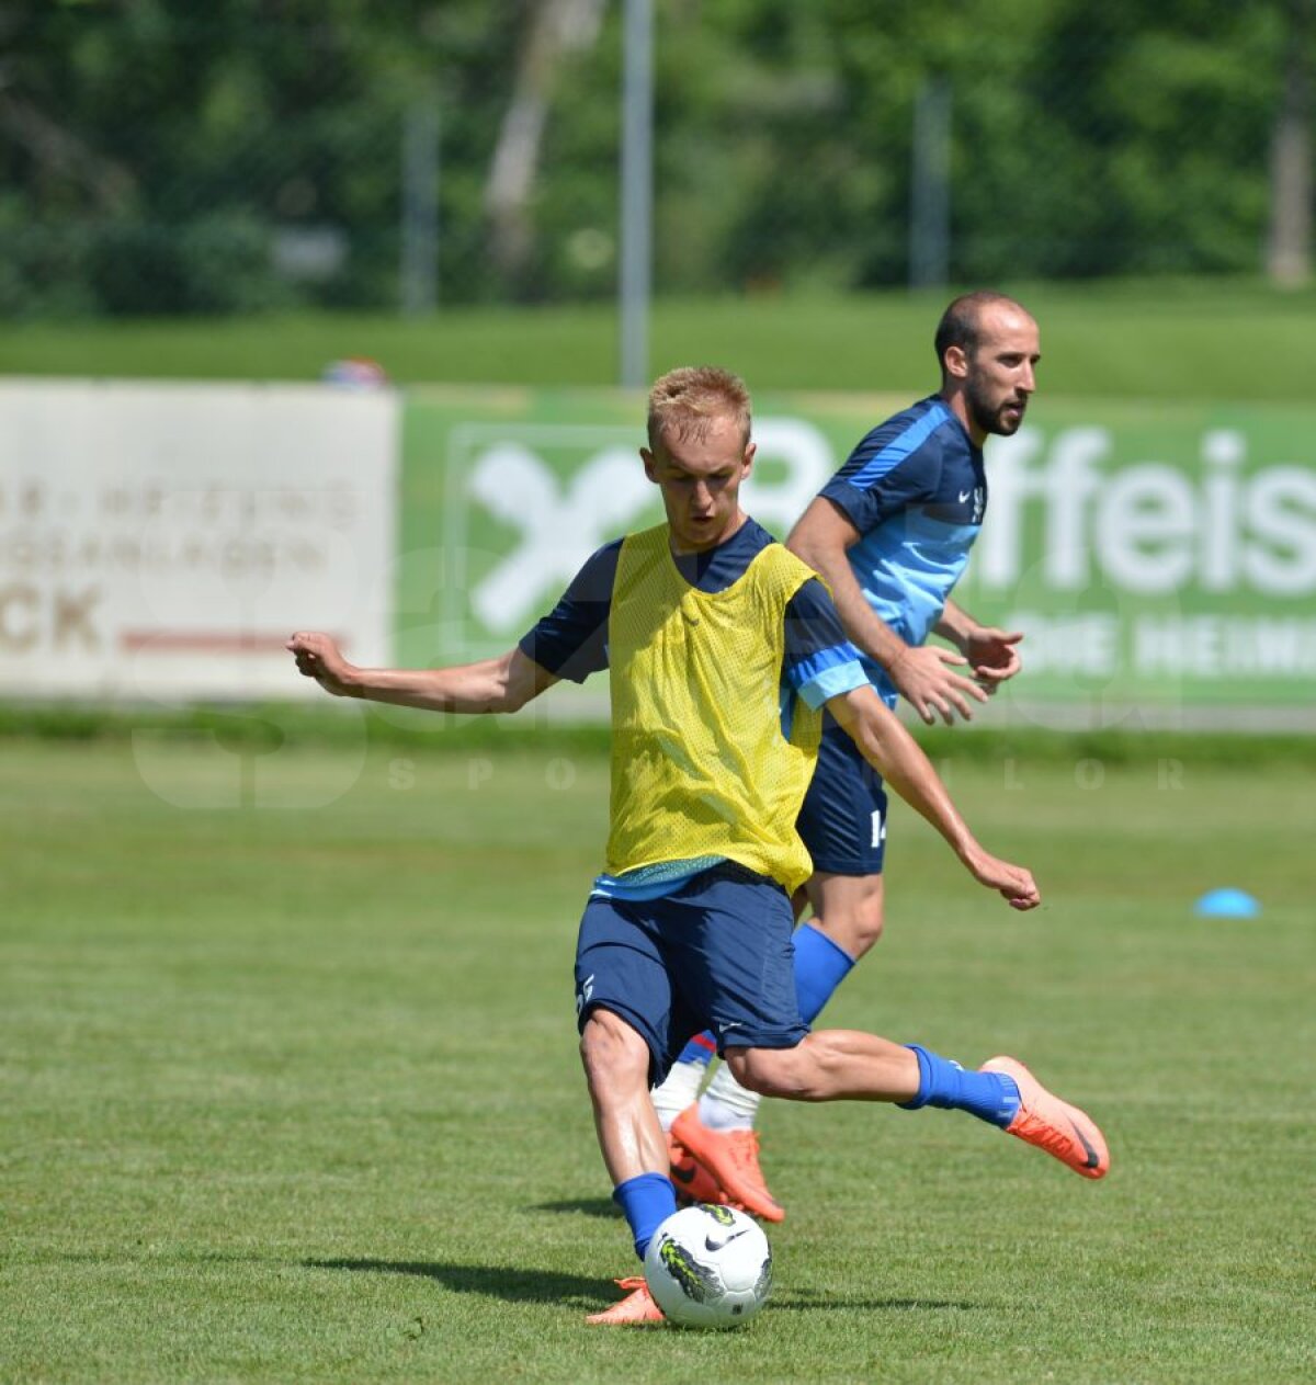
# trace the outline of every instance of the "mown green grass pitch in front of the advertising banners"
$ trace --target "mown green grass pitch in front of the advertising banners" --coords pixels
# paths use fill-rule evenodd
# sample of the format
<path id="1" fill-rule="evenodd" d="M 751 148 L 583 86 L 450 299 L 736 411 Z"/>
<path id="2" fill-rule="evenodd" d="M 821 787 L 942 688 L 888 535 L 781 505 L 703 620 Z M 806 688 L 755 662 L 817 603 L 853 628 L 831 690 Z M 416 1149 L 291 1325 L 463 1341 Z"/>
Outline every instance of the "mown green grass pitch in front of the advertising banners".
<path id="1" fill-rule="evenodd" d="M 1112 1173 L 773 1107 L 776 1296 L 711 1337 L 582 1324 L 632 1267 L 571 993 L 605 762 L 259 748 L 3 744 L 0 1379 L 1316 1378 L 1297 769 L 942 759 L 1046 904 L 898 813 L 831 1018 L 1017 1053 Z M 1194 918 L 1219 884 L 1263 915 Z"/>

